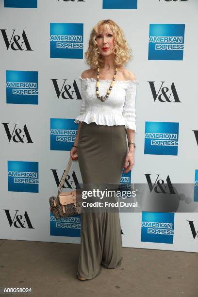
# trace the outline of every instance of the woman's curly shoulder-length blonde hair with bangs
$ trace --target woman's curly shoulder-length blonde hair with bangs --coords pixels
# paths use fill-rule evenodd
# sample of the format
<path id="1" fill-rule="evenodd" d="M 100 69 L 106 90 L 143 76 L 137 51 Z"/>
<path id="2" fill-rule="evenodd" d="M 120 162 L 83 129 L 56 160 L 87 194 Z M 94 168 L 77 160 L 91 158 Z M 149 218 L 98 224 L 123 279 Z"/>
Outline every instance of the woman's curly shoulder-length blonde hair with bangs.
<path id="1" fill-rule="evenodd" d="M 98 66 L 103 66 L 103 57 L 99 52 L 96 37 L 99 33 L 99 28 L 111 29 L 114 37 L 114 54 L 115 54 L 115 66 L 120 67 L 125 65 L 128 60 L 132 59 L 130 54 L 130 48 L 124 38 L 124 33 L 122 29 L 111 19 L 101 20 L 91 31 L 89 38 L 89 47 L 85 52 L 85 60 L 92 69 L 96 69 Z"/>

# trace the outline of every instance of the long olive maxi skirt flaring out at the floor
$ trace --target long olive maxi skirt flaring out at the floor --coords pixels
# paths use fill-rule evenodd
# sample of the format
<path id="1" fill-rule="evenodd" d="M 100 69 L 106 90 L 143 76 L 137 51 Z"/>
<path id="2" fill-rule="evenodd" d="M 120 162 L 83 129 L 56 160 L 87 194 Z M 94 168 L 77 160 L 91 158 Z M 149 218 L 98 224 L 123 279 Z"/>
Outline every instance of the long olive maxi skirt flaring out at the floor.
<path id="1" fill-rule="evenodd" d="M 78 141 L 78 162 L 85 183 L 120 183 L 128 152 L 124 125 L 82 122 Z M 81 246 L 78 273 L 93 279 L 104 268 L 116 268 L 122 261 L 122 238 L 118 212 L 81 214 Z"/>

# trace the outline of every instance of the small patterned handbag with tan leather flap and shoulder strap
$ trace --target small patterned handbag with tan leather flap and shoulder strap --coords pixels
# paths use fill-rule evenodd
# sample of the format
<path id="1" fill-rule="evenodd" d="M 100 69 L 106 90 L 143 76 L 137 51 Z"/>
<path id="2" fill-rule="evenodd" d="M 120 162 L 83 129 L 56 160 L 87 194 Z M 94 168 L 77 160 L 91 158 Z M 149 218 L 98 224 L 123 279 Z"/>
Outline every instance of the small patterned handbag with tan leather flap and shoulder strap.
<path id="1" fill-rule="evenodd" d="M 58 193 L 56 197 L 52 196 L 49 198 L 50 212 L 55 218 L 68 217 L 72 215 L 81 214 L 82 209 L 82 197 L 77 194 L 76 190 L 69 192 L 62 192 L 62 187 L 66 179 L 66 175 L 71 167 L 72 159 L 66 165 L 66 170 L 58 186 Z M 77 199 L 78 196 L 78 199 Z"/>

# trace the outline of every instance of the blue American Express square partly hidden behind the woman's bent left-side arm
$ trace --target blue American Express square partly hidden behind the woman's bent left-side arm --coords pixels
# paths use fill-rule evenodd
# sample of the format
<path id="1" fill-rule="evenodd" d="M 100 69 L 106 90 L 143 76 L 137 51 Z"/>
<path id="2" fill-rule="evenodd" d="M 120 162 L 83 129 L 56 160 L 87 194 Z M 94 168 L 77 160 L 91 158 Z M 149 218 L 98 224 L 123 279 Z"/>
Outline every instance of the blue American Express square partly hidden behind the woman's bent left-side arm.
<path id="1" fill-rule="evenodd" d="M 50 119 L 50 149 L 71 150 L 78 132 L 78 124 L 71 118 Z"/>

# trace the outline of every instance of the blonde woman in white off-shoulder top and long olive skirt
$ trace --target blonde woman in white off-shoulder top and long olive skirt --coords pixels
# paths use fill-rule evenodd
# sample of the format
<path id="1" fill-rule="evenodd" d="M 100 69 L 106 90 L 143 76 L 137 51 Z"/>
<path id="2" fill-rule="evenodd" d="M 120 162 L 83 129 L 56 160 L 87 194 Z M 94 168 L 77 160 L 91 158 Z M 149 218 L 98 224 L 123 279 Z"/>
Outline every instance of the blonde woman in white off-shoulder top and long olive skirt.
<path id="1" fill-rule="evenodd" d="M 119 185 L 124 167 L 127 173 L 134 164 L 138 83 L 123 67 L 131 56 L 122 29 L 112 20 L 99 21 L 90 34 L 85 58 L 91 68 L 80 77 L 82 105 L 70 155 L 78 159 L 83 184 Z M 120 266 L 123 257 L 118 212 L 82 213 L 81 219 L 77 275 L 84 281 L 98 276 L 101 266 Z"/>

